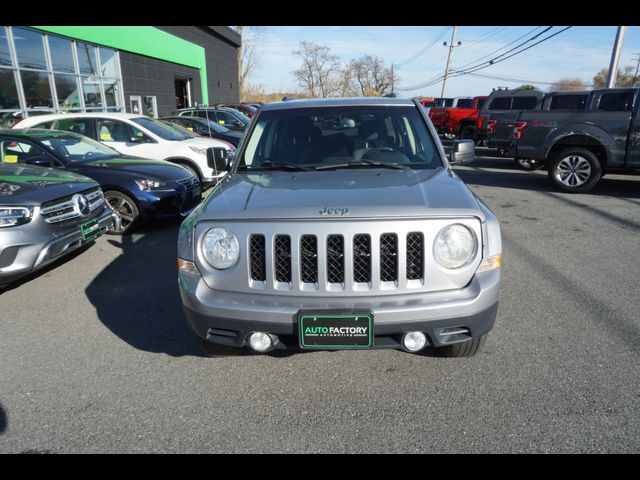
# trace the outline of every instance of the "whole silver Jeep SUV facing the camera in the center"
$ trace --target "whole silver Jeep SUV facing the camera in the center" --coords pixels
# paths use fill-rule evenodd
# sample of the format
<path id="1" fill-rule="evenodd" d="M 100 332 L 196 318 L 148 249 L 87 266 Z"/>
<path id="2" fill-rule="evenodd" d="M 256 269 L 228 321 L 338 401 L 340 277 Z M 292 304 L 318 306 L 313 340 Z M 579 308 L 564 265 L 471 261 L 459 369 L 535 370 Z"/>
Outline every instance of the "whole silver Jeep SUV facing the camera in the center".
<path id="1" fill-rule="evenodd" d="M 474 355 L 493 327 L 498 220 L 424 111 L 391 98 L 264 105 L 229 170 L 183 222 L 179 288 L 211 354 L 439 347 Z M 218 348 L 218 346 L 223 346 Z"/>

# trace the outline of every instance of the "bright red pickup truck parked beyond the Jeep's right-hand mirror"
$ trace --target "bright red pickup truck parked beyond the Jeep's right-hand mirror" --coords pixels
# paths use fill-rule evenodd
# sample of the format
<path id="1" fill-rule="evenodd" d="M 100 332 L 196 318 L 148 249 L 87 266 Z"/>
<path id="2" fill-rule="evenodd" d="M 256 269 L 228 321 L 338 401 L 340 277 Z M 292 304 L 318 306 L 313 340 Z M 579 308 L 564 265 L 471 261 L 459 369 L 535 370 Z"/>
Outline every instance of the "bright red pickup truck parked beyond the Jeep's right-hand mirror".
<path id="1" fill-rule="evenodd" d="M 487 97 L 458 99 L 451 108 L 432 108 L 429 118 L 446 138 L 476 138 L 476 119 Z"/>

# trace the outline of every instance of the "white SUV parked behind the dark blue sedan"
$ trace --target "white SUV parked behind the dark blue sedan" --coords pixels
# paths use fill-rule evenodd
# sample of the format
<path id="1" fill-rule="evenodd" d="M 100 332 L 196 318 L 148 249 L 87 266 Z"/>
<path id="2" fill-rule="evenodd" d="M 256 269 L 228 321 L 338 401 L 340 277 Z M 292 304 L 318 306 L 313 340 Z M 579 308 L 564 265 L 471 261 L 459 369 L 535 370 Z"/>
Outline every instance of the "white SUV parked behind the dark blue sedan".
<path id="1" fill-rule="evenodd" d="M 222 140 L 188 137 L 156 119 L 130 113 L 40 115 L 25 118 L 12 128 L 44 128 L 80 133 L 125 155 L 182 165 L 204 185 L 217 182 L 226 173 L 216 172 L 207 165 L 207 148 L 235 149 Z"/>

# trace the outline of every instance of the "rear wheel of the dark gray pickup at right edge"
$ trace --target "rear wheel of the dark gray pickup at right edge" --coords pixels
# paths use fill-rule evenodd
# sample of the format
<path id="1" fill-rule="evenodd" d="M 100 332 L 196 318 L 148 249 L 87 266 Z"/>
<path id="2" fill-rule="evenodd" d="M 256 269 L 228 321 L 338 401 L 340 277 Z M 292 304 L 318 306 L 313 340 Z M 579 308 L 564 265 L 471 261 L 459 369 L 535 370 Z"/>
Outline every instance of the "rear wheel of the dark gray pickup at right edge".
<path id="1" fill-rule="evenodd" d="M 588 192 L 601 176 L 598 157 L 586 148 L 566 148 L 556 154 L 549 165 L 549 178 L 565 192 Z"/>

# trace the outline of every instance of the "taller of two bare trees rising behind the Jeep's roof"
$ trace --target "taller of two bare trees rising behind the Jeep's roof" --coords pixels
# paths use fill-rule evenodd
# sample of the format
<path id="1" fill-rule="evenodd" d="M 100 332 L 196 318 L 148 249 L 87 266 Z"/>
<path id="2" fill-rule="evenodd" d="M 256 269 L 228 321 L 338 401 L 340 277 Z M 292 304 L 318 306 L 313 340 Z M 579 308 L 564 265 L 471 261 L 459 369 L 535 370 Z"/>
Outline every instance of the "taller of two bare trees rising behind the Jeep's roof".
<path id="1" fill-rule="evenodd" d="M 302 60 L 293 74 L 311 97 L 330 97 L 340 91 L 340 61 L 329 47 L 303 40 L 292 53 Z"/>

